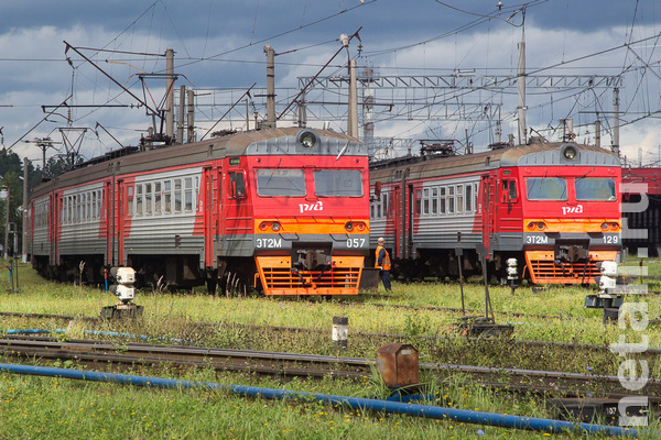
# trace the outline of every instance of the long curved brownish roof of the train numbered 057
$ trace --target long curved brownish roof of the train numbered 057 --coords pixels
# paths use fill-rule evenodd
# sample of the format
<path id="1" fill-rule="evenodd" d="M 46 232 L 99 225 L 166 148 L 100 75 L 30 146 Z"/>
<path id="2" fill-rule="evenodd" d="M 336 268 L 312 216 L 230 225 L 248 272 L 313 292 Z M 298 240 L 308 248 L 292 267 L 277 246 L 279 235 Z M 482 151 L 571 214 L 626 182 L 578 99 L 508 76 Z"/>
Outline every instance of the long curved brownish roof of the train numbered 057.
<path id="1" fill-rule="evenodd" d="M 301 140 L 312 133 L 316 142 L 313 146 L 303 146 Z M 33 196 L 40 196 L 53 188 L 82 185 L 90 180 L 111 175 L 152 172 L 159 168 L 194 164 L 242 155 L 350 155 L 367 156 L 367 147 L 355 138 L 329 130 L 302 129 L 296 127 L 261 129 L 212 138 L 202 142 L 158 146 L 136 152 L 139 148 L 127 147 L 123 152 L 88 161 L 84 166 L 64 173 L 33 189 Z"/>

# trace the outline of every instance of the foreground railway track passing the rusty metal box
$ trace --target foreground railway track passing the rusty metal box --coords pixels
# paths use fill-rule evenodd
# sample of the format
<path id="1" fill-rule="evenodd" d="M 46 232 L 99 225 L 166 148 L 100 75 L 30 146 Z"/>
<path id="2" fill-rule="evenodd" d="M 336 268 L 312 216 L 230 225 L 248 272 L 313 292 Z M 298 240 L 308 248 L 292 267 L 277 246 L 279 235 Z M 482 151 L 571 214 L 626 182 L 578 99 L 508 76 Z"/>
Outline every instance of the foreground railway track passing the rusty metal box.
<path id="1" fill-rule="evenodd" d="M 365 381 L 372 375 L 371 359 L 225 350 L 201 346 L 165 346 L 145 343 L 117 344 L 93 340 L 57 341 L 53 338 L 0 338 L 0 353 L 28 360 L 68 360 L 96 370 L 207 367 L 218 372 L 247 372 L 281 377 L 338 377 Z M 606 375 L 497 369 L 442 363 L 421 363 L 421 373 L 444 378 L 468 375 L 485 387 L 544 396 L 622 398 L 629 394 L 618 377 Z M 661 380 L 650 380 L 642 389 L 651 404 L 661 404 Z"/>

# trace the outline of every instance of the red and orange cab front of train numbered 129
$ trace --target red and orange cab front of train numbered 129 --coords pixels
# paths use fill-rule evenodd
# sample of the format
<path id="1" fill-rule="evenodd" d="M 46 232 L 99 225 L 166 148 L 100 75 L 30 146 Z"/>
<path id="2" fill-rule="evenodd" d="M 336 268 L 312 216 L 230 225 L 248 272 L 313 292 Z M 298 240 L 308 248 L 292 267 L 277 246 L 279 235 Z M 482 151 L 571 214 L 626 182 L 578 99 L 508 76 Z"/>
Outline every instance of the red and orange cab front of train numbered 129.
<path id="1" fill-rule="evenodd" d="M 527 270 L 533 283 L 593 283 L 598 263 L 618 261 L 622 249 L 619 163 L 573 143 L 546 160 L 522 169 Z"/>

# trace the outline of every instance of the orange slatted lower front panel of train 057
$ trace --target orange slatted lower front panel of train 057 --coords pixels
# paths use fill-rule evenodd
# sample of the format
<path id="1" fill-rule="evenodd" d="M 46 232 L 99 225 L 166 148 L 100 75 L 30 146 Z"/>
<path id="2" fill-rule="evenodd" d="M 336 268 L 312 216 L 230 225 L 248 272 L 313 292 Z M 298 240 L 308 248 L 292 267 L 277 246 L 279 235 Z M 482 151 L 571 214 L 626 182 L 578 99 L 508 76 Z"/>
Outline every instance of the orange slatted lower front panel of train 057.
<path id="1" fill-rule="evenodd" d="M 358 295 L 362 256 L 333 257 L 328 271 L 297 271 L 289 256 L 257 256 L 266 295 Z"/>

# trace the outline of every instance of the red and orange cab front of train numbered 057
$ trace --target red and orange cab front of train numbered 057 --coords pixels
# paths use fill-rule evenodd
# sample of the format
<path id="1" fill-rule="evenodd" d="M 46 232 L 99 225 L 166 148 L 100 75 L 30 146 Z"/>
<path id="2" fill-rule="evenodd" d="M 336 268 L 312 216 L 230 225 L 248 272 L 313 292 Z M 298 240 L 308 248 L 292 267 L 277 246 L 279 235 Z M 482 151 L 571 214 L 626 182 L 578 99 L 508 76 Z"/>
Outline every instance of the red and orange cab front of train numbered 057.
<path id="1" fill-rule="evenodd" d="M 263 145 L 248 160 L 256 285 L 266 295 L 357 295 L 369 252 L 367 150 L 313 129 L 286 147 Z"/>

